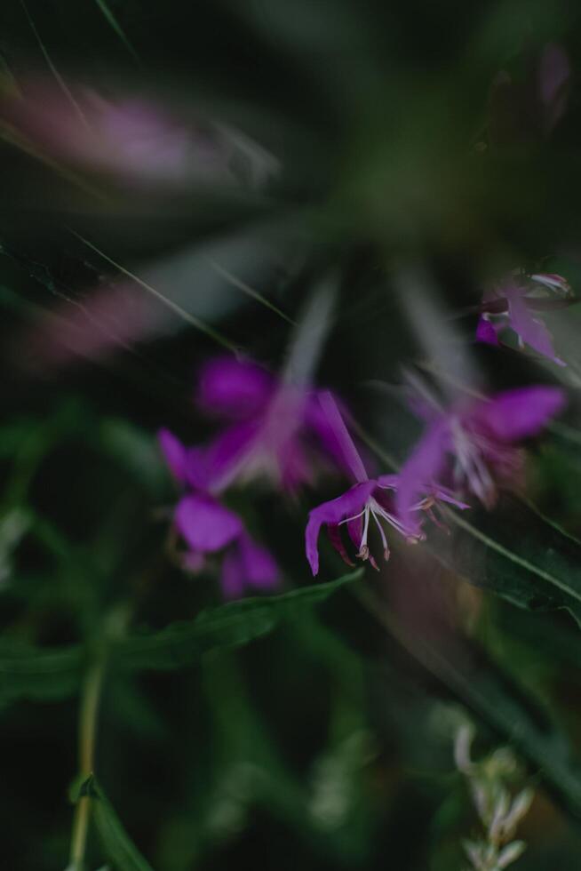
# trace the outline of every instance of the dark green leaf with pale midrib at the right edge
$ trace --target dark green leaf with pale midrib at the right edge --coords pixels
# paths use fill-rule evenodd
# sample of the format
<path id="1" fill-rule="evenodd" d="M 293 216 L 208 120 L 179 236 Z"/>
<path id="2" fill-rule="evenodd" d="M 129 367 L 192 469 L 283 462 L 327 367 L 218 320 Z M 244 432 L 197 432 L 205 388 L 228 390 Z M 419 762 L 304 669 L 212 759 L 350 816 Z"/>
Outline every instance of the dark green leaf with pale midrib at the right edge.
<path id="1" fill-rule="evenodd" d="M 556 523 L 510 496 L 495 512 L 445 514 L 453 535 L 429 537 L 441 562 L 521 608 L 567 608 L 581 621 L 581 545 Z"/>

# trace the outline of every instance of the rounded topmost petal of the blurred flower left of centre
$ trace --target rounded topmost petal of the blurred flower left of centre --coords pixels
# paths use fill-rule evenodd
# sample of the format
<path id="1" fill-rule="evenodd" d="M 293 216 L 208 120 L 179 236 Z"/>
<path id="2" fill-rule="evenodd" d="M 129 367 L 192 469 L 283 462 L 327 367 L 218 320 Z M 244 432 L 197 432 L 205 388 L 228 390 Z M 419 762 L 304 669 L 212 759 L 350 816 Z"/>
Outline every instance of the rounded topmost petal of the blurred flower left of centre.
<path id="1" fill-rule="evenodd" d="M 229 418 L 251 418 L 264 409 L 275 380 L 269 372 L 249 362 L 219 357 L 203 367 L 198 402 L 209 412 Z"/>

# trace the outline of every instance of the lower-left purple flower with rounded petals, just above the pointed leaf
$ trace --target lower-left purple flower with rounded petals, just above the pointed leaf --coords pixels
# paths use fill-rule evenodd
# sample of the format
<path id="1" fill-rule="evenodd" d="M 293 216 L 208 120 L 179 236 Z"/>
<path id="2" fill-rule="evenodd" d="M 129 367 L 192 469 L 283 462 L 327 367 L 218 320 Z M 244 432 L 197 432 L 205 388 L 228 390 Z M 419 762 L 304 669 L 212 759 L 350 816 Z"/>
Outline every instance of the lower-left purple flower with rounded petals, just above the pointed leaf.
<path id="1" fill-rule="evenodd" d="M 187 544 L 180 562 L 188 571 L 201 571 L 209 555 L 223 552 L 221 587 L 225 598 L 238 598 L 246 587 L 276 587 L 280 573 L 274 557 L 244 529 L 241 518 L 213 495 L 216 464 L 211 448 L 187 448 L 168 429 L 159 442 L 172 475 L 188 490 L 173 515 L 175 529 Z"/>

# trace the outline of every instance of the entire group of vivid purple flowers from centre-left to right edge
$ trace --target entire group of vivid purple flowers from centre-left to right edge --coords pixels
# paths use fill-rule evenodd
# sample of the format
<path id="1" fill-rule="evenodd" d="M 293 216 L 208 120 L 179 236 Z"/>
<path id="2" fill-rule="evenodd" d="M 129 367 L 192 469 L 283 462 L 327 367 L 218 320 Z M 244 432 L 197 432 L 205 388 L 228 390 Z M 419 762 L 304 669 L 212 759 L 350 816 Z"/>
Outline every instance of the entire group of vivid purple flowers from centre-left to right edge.
<path id="1" fill-rule="evenodd" d="M 571 300 L 561 276 L 507 280 L 485 294 L 477 337 L 499 344 L 499 334 L 510 328 L 521 348 L 528 345 L 562 365 L 536 315 Z M 462 396 L 446 408 L 435 400 L 414 403 L 426 423 L 424 434 L 399 474 L 373 477 L 336 399 L 305 380 L 297 383 L 250 361 L 222 357 L 203 367 L 196 403 L 220 422 L 211 443 L 187 448 L 168 430 L 160 433 L 167 464 L 183 488 L 173 527 L 187 545 L 182 564 L 198 571 L 208 555 L 219 553 L 224 595 L 236 597 L 246 587 L 275 587 L 279 571 L 274 557 L 223 503 L 231 486 L 260 480 L 293 496 L 314 483 L 321 467 L 342 470 L 351 486 L 310 511 L 306 558 L 316 575 L 324 529 L 347 564 L 356 557 L 377 569 L 371 539 L 387 560 L 390 530 L 410 544 L 421 542 L 427 520 L 445 528 L 442 505 L 464 510 L 474 498 L 490 509 L 499 489 L 518 487 L 521 443 L 561 412 L 565 395 L 561 388 L 533 385 Z"/>

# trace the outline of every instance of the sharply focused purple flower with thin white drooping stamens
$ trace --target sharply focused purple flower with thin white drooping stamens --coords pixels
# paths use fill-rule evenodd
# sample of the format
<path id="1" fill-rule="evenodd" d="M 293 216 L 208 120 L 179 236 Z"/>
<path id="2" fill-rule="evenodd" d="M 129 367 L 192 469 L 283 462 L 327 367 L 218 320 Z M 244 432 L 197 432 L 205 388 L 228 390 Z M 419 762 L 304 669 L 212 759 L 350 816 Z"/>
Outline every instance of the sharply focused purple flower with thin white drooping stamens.
<path id="1" fill-rule="evenodd" d="M 353 440 L 347 432 L 345 423 L 338 411 L 330 394 L 323 393 L 320 396 L 320 404 L 327 416 L 330 429 L 335 436 L 338 447 L 343 451 L 346 466 L 350 468 L 355 482 L 337 499 L 323 502 L 309 513 L 306 524 L 306 558 L 310 563 L 313 574 L 319 571 L 319 552 L 317 542 L 321 527 L 325 526 L 329 534 L 330 543 L 338 551 L 338 554 L 348 565 L 353 565 L 346 547 L 341 539 L 341 526 L 346 526 L 348 538 L 356 548 L 359 559 L 369 560 L 377 569 L 378 564 L 370 553 L 369 533 L 373 524 L 377 527 L 379 538 L 383 545 L 384 558 L 389 558 L 389 545 L 383 523 L 392 526 L 410 543 L 424 538 L 420 530 L 421 523 L 414 520 L 411 523 L 402 522 L 401 516 L 396 510 L 394 494 L 398 489 L 399 480 L 397 475 L 379 475 L 377 478 L 369 478 L 362 459 L 359 456 Z M 452 502 L 458 507 L 467 507 L 454 499 L 453 495 L 444 488 L 434 486 L 430 493 L 418 499 L 416 504 L 410 506 L 410 511 L 418 512 L 426 510 L 431 512 L 438 499 Z"/>

